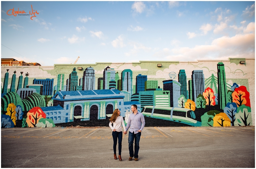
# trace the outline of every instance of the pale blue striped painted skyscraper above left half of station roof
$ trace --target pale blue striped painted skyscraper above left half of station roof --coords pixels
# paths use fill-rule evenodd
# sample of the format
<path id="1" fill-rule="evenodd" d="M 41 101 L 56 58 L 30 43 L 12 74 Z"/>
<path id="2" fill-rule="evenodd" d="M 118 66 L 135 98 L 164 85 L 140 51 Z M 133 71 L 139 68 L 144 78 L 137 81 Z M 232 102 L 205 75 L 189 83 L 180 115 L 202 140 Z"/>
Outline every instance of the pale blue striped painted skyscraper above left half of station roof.
<path id="1" fill-rule="evenodd" d="M 86 68 L 83 75 L 82 90 L 95 89 L 95 70 L 92 67 Z"/>

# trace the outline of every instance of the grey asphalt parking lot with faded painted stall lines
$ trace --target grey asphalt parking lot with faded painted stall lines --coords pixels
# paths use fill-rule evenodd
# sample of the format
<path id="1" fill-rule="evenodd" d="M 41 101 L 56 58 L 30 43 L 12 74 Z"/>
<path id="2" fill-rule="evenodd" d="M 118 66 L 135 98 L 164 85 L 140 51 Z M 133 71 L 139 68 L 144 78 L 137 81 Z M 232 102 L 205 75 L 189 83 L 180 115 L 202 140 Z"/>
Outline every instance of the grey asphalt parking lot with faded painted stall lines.
<path id="1" fill-rule="evenodd" d="M 1 167 L 255 168 L 255 127 L 145 127 L 139 161 L 128 161 L 128 134 L 123 161 L 114 160 L 111 133 L 109 127 L 2 128 Z"/>

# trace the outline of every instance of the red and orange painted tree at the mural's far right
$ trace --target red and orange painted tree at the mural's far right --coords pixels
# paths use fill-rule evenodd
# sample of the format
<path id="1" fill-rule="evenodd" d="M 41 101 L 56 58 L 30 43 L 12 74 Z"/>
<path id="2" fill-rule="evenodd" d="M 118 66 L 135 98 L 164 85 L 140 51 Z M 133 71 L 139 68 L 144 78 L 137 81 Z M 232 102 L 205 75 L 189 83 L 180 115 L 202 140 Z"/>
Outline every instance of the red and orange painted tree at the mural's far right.
<path id="1" fill-rule="evenodd" d="M 237 104 L 237 107 L 243 104 L 251 107 L 250 93 L 247 91 L 245 86 L 235 88 L 234 92 L 232 93 L 232 98 L 233 102 Z"/>

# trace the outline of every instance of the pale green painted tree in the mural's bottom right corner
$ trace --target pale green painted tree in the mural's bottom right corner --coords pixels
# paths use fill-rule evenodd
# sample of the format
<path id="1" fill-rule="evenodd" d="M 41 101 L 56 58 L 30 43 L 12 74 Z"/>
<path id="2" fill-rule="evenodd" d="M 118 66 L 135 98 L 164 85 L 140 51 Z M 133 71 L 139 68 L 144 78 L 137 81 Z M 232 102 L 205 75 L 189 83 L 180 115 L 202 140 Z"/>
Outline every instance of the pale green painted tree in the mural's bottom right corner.
<path id="1" fill-rule="evenodd" d="M 252 125 L 252 113 L 251 108 L 246 105 L 241 105 L 237 108 L 237 113 L 235 114 L 236 120 L 234 122 L 235 126 L 251 126 Z"/>

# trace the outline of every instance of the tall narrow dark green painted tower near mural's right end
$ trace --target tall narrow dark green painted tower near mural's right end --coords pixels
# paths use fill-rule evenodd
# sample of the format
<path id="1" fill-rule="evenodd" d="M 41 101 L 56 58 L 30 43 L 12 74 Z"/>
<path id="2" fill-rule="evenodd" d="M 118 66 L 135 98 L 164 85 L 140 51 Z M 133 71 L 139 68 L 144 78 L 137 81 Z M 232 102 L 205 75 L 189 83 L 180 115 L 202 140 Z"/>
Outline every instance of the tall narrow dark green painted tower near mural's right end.
<path id="1" fill-rule="evenodd" d="M 226 75 L 224 64 L 219 62 L 217 64 L 218 69 L 218 105 L 220 105 L 220 109 L 224 109 L 227 104 L 227 84 L 226 84 Z"/>

